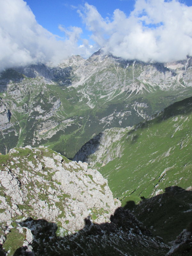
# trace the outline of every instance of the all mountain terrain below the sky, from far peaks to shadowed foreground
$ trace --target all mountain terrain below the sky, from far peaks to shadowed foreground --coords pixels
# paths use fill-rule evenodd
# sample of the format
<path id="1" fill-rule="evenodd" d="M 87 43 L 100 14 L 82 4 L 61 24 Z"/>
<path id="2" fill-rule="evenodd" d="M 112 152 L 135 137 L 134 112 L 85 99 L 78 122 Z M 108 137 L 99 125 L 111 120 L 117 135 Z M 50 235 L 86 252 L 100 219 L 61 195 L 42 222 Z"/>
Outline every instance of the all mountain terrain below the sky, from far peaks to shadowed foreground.
<path id="1" fill-rule="evenodd" d="M 191 57 L 4 70 L 0 253 L 191 255 L 191 113 Z"/>

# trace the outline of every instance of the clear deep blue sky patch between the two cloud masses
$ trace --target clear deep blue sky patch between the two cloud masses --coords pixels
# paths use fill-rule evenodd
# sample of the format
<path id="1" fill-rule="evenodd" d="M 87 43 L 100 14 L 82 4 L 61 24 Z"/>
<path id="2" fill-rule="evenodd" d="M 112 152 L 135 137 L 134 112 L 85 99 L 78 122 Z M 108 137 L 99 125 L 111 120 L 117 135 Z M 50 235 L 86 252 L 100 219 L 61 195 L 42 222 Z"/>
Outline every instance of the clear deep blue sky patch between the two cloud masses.
<path id="1" fill-rule="evenodd" d="M 58 28 L 59 25 L 66 28 L 77 26 L 83 29 L 82 37 L 87 39 L 91 32 L 86 30 L 77 13 L 77 9 L 81 9 L 85 2 L 94 5 L 103 18 L 110 18 L 115 9 L 120 9 L 129 15 L 135 3 L 134 0 L 26 0 L 26 2 L 35 14 L 37 22 L 53 34 L 64 36 Z"/>

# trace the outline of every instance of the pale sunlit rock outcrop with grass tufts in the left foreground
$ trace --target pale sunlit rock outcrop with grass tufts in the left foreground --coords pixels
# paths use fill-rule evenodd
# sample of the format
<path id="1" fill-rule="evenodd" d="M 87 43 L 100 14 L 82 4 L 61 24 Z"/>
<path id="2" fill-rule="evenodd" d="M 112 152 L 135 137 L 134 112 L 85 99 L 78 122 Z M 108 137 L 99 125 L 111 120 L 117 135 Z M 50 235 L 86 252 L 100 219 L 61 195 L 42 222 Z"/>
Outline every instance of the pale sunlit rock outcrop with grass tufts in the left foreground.
<path id="1" fill-rule="evenodd" d="M 102 175 L 86 163 L 71 162 L 46 148 L 15 148 L 0 156 L 0 219 L 33 217 L 59 223 L 58 232 L 74 232 L 90 216 L 109 220 L 120 202 Z"/>

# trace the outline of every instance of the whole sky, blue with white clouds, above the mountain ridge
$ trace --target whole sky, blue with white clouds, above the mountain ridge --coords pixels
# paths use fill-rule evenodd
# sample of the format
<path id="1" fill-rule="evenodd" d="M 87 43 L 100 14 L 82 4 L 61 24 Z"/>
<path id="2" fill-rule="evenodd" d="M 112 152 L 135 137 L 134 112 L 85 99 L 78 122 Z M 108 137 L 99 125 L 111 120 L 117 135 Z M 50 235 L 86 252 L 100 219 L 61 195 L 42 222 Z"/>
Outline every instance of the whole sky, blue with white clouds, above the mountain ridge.
<path id="1" fill-rule="evenodd" d="M 0 70 L 102 48 L 127 60 L 192 56 L 192 0 L 0 1 Z"/>

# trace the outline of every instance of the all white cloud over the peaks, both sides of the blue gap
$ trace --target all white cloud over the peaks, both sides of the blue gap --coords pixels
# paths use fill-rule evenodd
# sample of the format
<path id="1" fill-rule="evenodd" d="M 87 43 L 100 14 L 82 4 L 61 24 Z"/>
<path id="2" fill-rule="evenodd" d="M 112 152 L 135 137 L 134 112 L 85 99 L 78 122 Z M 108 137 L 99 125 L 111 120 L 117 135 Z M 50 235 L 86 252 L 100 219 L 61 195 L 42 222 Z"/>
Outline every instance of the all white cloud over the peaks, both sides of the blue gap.
<path id="1" fill-rule="evenodd" d="M 192 7 L 176 0 L 136 0 L 129 16 L 116 9 L 112 19 L 104 19 L 88 3 L 78 13 L 92 32 L 93 46 L 81 39 L 79 27 L 60 25 L 61 39 L 37 23 L 23 0 L 0 1 L 0 70 L 38 62 L 56 65 L 72 54 L 89 57 L 99 48 L 145 62 L 192 56 Z"/>

